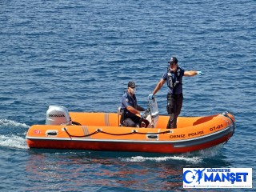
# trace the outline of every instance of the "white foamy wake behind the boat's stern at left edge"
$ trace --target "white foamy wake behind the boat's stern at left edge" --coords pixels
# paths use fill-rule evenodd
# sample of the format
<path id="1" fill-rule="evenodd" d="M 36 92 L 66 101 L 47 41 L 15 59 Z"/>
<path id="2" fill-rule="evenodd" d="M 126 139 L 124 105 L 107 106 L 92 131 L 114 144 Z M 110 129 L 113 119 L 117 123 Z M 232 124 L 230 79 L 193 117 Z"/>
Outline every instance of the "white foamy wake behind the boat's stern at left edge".
<path id="1" fill-rule="evenodd" d="M 14 147 L 18 149 L 28 149 L 26 139 L 17 135 L 0 135 L 0 146 Z"/>

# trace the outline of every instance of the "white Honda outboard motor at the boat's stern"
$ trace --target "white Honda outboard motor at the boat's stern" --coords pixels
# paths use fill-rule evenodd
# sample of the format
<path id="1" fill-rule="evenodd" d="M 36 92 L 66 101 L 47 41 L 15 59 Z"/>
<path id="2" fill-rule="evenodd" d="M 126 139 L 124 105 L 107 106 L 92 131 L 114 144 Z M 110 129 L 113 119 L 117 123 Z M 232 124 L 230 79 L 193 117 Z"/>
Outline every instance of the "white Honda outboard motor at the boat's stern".
<path id="1" fill-rule="evenodd" d="M 66 125 L 72 124 L 70 114 L 65 106 L 49 106 L 46 111 L 46 125 Z"/>

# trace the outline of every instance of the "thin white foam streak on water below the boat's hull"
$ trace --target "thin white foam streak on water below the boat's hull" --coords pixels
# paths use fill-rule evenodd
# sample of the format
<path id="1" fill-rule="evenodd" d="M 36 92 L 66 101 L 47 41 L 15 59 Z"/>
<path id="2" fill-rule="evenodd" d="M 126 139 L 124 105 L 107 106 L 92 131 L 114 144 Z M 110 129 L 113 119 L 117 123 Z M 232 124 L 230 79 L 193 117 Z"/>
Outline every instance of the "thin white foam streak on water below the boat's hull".
<path id="1" fill-rule="evenodd" d="M 136 156 L 136 157 L 131 157 L 131 158 L 122 158 L 122 161 L 125 161 L 125 162 L 146 162 L 146 161 L 166 162 L 169 160 L 185 161 L 185 162 L 190 162 L 190 163 L 202 162 L 202 158 L 200 158 L 200 157 L 187 158 L 187 157 L 183 157 L 183 156 L 152 157 L 152 158 Z"/>

